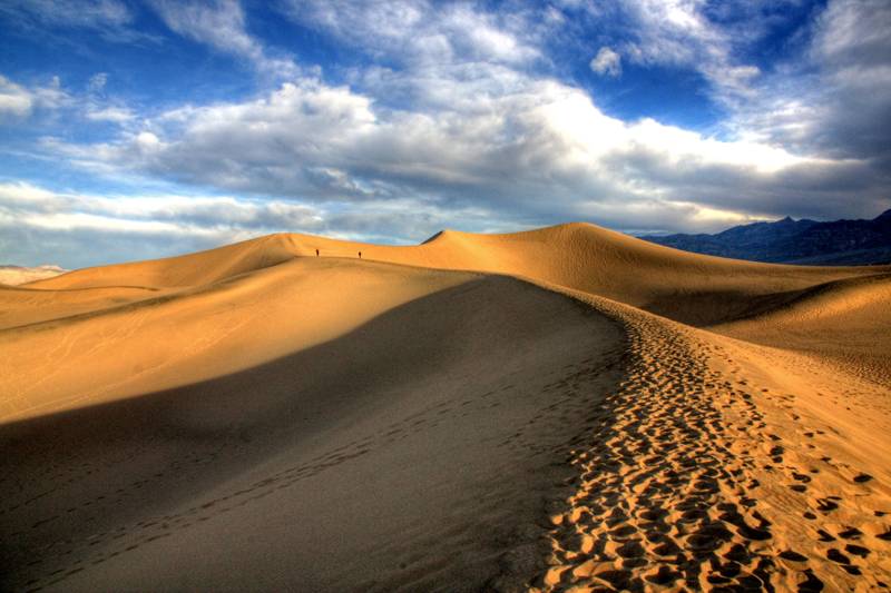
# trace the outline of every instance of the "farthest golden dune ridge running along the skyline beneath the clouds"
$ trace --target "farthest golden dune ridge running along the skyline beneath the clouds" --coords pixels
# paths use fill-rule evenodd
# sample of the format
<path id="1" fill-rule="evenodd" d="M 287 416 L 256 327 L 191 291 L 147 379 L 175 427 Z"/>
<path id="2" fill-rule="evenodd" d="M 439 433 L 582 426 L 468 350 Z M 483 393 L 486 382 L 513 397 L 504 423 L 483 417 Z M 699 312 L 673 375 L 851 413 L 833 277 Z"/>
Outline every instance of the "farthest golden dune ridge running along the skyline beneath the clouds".
<path id="1" fill-rule="evenodd" d="M 606 296 L 696 325 L 727 322 L 782 303 L 790 291 L 891 268 L 817 268 L 738 261 L 678 251 L 587 224 L 509 235 L 452 230 L 411 247 L 272 235 L 177 258 L 90 268 L 36 288 L 138 284 L 155 288 L 219 280 L 293 256 L 358 258 L 442 269 L 511 274 Z"/>

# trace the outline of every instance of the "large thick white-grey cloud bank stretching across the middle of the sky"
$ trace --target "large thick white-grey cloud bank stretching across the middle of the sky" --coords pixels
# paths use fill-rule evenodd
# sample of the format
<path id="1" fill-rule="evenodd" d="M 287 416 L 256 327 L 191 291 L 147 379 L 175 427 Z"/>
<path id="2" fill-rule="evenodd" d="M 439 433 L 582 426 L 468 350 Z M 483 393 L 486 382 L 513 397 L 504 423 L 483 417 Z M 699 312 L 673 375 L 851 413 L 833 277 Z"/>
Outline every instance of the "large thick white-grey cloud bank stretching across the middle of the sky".
<path id="1" fill-rule="evenodd" d="M 249 101 L 168 110 L 112 142 L 47 147 L 112 175 L 350 209 L 351 224 L 386 213 L 403 240 L 417 234 L 395 221 L 421 218 L 413 211 L 439 213 L 443 221 L 450 217 L 442 213 L 473 211 L 498 228 L 595 219 L 714 230 L 722 220 L 809 209 L 874 215 L 883 204 L 882 172 L 862 160 L 802 157 L 653 119 L 625 122 L 554 80 L 518 76 L 500 93 L 462 100 L 476 88 L 477 80 L 452 80 L 454 100 L 425 112 L 381 108 L 346 87 L 304 80 Z M 853 187 L 856 207 L 842 189 Z M 396 213 L 386 204 L 409 206 Z"/>

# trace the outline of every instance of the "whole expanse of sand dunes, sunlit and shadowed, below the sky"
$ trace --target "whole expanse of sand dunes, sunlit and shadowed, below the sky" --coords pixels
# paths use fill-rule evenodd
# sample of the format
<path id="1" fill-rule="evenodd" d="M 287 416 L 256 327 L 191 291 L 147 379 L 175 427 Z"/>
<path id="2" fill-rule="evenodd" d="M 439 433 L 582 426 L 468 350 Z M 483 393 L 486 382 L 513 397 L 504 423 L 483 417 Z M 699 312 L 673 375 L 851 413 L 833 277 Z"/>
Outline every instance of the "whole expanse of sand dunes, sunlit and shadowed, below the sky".
<path id="1" fill-rule="evenodd" d="M 884 590 L 889 303 L 587 224 L 0 286 L 0 589 Z"/>

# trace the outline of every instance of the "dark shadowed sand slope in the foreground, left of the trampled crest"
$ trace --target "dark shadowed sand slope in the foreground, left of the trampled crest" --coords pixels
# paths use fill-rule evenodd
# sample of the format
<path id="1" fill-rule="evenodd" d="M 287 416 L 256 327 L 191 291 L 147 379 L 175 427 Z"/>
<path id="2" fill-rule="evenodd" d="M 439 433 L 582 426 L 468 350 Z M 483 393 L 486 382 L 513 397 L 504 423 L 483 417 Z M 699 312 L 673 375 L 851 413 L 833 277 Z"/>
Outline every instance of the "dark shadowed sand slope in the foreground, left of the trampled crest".
<path id="1" fill-rule="evenodd" d="M 362 274 L 389 279 L 379 290 L 438 281 L 335 268 L 353 315 L 374 298 Z M 0 427 L 0 589 L 477 591 L 502 572 L 521 583 L 544 566 L 545 496 L 617 379 L 621 335 L 565 296 L 452 277 L 241 373 Z"/>

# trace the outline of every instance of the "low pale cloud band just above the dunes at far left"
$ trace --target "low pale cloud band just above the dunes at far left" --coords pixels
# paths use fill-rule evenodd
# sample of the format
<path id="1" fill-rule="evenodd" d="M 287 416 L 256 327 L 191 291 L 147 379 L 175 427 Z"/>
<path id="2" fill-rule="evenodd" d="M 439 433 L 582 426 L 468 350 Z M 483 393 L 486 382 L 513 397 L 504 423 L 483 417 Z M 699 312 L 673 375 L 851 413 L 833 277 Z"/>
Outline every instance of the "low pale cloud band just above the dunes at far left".
<path id="1" fill-rule="evenodd" d="M 50 253 L 65 267 L 163 257 L 319 224 L 317 210 L 290 202 L 96 196 L 0 182 L 0 253 L 16 264 L 37 265 Z"/>

